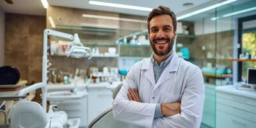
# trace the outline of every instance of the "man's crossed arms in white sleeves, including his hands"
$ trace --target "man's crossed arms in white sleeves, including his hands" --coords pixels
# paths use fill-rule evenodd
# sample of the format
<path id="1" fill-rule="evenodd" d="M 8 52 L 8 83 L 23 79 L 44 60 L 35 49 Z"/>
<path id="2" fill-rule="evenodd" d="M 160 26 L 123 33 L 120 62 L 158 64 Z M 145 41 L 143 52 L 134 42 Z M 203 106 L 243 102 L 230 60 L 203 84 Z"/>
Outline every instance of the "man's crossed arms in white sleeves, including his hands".
<path id="1" fill-rule="evenodd" d="M 136 72 L 130 70 L 113 101 L 116 120 L 141 127 L 200 127 L 204 106 L 204 79 L 199 68 L 190 71 L 181 102 L 161 103 L 163 118 L 154 118 L 155 103 L 141 102 L 136 88 Z M 193 74 L 193 75 L 192 75 Z"/>

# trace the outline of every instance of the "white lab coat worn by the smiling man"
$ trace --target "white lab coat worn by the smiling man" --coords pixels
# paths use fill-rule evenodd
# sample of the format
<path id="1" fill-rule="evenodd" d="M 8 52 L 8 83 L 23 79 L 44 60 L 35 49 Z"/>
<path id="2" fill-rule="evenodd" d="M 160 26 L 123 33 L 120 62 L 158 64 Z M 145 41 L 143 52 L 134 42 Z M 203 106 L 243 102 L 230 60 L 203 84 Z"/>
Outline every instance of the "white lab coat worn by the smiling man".
<path id="1" fill-rule="evenodd" d="M 199 128 L 204 108 L 204 78 L 200 68 L 179 58 L 173 58 L 157 83 L 151 58 L 136 63 L 113 101 L 116 120 L 131 123 L 132 127 Z M 136 88 L 141 102 L 127 97 L 128 88 Z M 157 103 L 181 102 L 181 113 L 154 119 Z"/>

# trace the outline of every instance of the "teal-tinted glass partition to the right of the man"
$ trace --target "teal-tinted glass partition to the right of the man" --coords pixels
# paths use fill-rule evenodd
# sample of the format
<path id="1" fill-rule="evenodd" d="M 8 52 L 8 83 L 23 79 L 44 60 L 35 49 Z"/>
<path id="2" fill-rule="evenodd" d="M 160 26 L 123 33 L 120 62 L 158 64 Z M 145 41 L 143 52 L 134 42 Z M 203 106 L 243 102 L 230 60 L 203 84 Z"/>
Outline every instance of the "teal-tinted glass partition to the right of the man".
<path id="1" fill-rule="evenodd" d="M 247 79 L 247 69 L 255 68 L 256 1 L 225 4 L 193 15 L 180 22 L 192 22 L 195 36 L 178 36 L 177 52 L 187 47 L 190 58 L 202 69 L 205 103 L 201 127 L 220 127 L 216 117 L 216 86 L 236 84 Z M 234 112 L 236 113 L 236 112 Z M 243 121 L 240 121 L 243 122 Z M 227 122 L 230 123 L 230 122 Z"/>

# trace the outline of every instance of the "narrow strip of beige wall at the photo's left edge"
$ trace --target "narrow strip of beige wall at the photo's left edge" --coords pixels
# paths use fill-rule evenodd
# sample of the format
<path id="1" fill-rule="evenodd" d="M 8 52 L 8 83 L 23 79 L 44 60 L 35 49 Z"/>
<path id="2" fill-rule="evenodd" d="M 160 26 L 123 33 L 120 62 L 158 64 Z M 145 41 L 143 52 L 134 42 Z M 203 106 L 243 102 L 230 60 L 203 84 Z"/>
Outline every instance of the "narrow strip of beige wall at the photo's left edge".
<path id="1" fill-rule="evenodd" d="M 4 65 L 4 12 L 0 10 L 0 67 Z"/>

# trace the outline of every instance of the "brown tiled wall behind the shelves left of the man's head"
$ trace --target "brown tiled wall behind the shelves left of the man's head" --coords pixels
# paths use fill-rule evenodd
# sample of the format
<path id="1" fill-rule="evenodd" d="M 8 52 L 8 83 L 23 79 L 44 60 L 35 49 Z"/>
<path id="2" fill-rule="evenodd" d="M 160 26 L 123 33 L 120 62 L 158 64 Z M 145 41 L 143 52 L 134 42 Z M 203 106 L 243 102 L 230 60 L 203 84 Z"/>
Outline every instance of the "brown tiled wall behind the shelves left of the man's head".
<path id="1" fill-rule="evenodd" d="M 56 29 L 57 31 L 62 31 L 65 33 L 78 33 L 79 38 L 82 42 L 97 42 L 100 44 L 111 44 L 111 45 L 94 45 L 99 47 L 100 53 L 108 51 L 108 47 L 116 47 L 115 40 L 119 36 L 128 35 L 134 33 L 135 31 L 141 31 L 147 29 L 146 23 L 138 22 L 125 22 L 120 20 L 106 20 L 106 19 L 92 19 L 82 17 L 83 14 L 90 15 L 104 15 L 108 17 L 122 17 L 129 19 L 140 19 L 147 20 L 147 17 L 126 15 L 120 13 L 112 12 L 100 12 L 95 10 L 81 10 L 76 8 L 63 8 L 57 6 L 49 6 L 47 9 L 47 17 L 51 16 L 54 20 L 56 26 L 82 26 L 81 23 L 86 24 L 104 24 L 106 26 L 118 26 L 117 31 L 114 33 L 104 33 L 102 31 L 80 31 L 79 29 Z M 51 24 L 47 20 L 47 28 L 51 28 Z M 57 27 L 58 28 L 58 27 Z M 51 28 L 52 29 L 52 28 Z M 51 40 L 56 40 L 56 38 L 51 37 Z M 61 39 L 59 39 L 61 40 Z M 93 45 L 86 45 L 87 47 L 92 47 Z M 133 47 L 127 47 L 126 50 L 132 49 Z M 124 49 L 122 49 L 124 51 Z M 131 51 L 130 51 L 131 52 Z M 74 59 L 67 58 L 66 56 L 51 56 L 50 61 L 52 63 L 52 68 L 56 68 L 56 71 L 61 70 L 62 72 L 75 72 L 76 68 L 83 70 L 88 70 L 90 67 L 99 67 L 102 70 L 104 66 L 107 67 L 118 67 L 117 58 L 92 58 L 88 60 L 87 58 Z"/>

